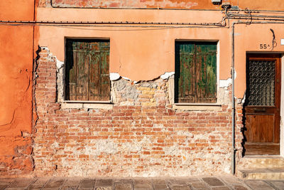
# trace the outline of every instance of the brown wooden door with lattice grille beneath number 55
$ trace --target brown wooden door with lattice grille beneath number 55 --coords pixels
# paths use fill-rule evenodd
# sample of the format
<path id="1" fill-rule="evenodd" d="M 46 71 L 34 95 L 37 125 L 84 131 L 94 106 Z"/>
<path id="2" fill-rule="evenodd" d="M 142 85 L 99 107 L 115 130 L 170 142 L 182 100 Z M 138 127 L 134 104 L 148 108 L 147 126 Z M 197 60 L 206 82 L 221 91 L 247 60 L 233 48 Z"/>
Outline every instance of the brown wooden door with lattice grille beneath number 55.
<path id="1" fill-rule="evenodd" d="M 280 55 L 248 54 L 245 154 L 280 154 Z"/>

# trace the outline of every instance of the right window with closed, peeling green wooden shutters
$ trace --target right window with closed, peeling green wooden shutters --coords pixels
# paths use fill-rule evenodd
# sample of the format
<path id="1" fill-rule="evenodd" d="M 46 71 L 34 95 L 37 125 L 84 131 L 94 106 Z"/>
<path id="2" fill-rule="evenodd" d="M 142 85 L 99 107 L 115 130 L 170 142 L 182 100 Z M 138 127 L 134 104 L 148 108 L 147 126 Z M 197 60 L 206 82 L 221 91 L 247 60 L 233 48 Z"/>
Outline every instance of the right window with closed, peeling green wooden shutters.
<path id="1" fill-rule="evenodd" d="M 217 102 L 216 54 L 216 42 L 175 42 L 175 102 Z"/>

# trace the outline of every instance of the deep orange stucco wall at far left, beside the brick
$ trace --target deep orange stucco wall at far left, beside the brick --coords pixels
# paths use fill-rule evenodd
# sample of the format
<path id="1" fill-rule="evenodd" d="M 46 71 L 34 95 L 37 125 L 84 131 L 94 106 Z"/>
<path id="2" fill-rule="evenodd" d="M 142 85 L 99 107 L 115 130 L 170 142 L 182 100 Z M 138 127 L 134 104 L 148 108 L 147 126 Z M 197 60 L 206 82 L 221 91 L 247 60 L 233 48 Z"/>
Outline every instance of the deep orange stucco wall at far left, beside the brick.
<path id="1" fill-rule="evenodd" d="M 34 1 L 1 1 L 0 20 L 33 21 Z M 33 169 L 33 26 L 0 25 L 0 176 Z"/>

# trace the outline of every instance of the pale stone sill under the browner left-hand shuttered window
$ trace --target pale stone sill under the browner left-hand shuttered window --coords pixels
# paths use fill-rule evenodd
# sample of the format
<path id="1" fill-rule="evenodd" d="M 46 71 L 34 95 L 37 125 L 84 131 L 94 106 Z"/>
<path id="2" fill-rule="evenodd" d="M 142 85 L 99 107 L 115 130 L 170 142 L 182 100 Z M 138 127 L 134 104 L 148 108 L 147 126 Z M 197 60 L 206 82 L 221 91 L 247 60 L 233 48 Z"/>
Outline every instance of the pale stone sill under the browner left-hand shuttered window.
<path id="1" fill-rule="evenodd" d="M 111 110 L 114 104 L 111 101 L 72 101 L 65 100 L 61 103 L 62 109 L 104 109 Z"/>

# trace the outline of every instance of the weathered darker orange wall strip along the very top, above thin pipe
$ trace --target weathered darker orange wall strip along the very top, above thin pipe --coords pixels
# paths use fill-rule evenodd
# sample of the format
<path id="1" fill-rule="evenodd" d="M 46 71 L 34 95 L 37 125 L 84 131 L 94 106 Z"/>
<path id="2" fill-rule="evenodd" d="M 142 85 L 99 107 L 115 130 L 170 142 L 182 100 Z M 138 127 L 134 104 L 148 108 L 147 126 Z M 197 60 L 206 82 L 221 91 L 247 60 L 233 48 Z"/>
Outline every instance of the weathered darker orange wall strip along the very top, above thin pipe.
<path id="1" fill-rule="evenodd" d="M 53 7 L 86 7 L 86 8 L 139 8 L 139 9 L 220 9 L 220 5 L 212 4 L 211 0 L 51 0 Z M 232 6 L 239 6 L 241 9 L 258 9 L 258 10 L 281 10 L 284 6 L 282 0 L 223 0 L 230 2 Z M 46 6 L 47 0 L 40 0 L 40 6 Z"/>

